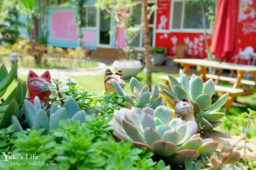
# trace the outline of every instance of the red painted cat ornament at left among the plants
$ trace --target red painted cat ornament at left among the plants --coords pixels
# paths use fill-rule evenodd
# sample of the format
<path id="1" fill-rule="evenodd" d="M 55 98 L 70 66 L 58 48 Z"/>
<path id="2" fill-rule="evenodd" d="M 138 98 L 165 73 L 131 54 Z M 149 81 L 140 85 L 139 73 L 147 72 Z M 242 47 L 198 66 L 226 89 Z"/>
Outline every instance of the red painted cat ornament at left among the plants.
<path id="1" fill-rule="evenodd" d="M 52 85 L 50 80 L 51 76 L 49 71 L 44 72 L 40 77 L 34 71 L 29 71 L 29 74 L 27 75 L 27 94 L 28 97 L 30 97 L 30 102 L 34 104 L 34 98 L 35 96 L 38 96 L 41 102 L 49 103 L 49 100 L 44 97 L 48 98 L 51 92 L 42 92 L 42 90 L 47 86 Z"/>

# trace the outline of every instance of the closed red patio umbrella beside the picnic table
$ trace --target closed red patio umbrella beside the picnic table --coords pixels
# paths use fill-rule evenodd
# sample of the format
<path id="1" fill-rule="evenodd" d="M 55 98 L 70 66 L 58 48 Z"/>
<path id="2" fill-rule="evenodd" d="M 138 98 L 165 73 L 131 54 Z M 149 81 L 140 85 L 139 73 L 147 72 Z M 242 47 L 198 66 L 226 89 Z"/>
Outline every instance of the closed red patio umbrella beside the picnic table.
<path id="1" fill-rule="evenodd" d="M 216 59 L 227 59 L 238 54 L 239 0 L 218 0 L 211 52 Z"/>

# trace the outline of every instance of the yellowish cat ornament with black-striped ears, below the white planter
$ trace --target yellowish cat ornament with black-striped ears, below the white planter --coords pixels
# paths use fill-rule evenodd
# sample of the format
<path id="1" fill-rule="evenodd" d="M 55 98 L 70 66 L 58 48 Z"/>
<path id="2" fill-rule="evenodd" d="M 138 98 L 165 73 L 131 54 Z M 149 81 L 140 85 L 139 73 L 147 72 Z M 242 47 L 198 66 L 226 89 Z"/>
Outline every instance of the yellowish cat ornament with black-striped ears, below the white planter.
<path id="1" fill-rule="evenodd" d="M 104 74 L 105 92 L 116 92 L 116 90 L 114 90 L 115 81 L 117 81 L 122 88 L 125 87 L 122 69 L 119 68 L 114 74 L 110 69 L 106 69 Z"/>

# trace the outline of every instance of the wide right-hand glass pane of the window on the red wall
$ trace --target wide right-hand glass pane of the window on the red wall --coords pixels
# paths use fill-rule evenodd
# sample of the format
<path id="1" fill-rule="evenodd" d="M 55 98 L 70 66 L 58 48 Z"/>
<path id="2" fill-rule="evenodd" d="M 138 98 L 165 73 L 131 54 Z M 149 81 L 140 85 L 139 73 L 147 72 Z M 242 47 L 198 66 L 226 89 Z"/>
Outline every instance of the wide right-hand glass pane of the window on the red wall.
<path id="1" fill-rule="evenodd" d="M 207 12 L 206 6 L 204 6 L 204 10 Z M 202 10 L 200 3 L 191 4 L 189 2 L 185 3 L 184 9 L 184 23 L 183 28 L 190 29 L 203 29 L 203 19 L 202 19 Z M 208 18 L 206 17 L 206 29 L 210 28 L 210 23 Z"/>

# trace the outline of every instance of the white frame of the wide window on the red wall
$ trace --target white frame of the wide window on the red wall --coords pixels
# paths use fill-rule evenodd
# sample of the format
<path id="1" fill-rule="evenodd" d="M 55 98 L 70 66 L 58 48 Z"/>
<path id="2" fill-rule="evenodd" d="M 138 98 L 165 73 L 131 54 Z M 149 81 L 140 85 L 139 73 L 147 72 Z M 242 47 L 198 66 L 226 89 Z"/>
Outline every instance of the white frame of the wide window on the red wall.
<path id="1" fill-rule="evenodd" d="M 171 11 L 170 11 L 170 23 L 169 23 L 169 30 L 170 32 L 182 32 L 182 33 L 203 33 L 204 29 L 187 29 L 183 28 L 183 23 L 184 23 L 184 13 L 185 13 L 185 2 L 186 1 L 191 1 L 191 0 L 172 0 L 171 1 Z M 174 2 L 183 2 L 182 3 L 182 9 L 181 9 L 181 24 L 180 24 L 180 29 L 172 29 L 172 21 L 174 17 Z M 207 33 L 212 32 L 212 24 L 210 23 L 210 28 L 206 29 Z"/>

